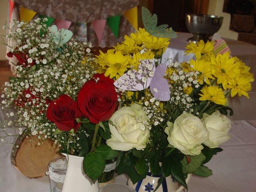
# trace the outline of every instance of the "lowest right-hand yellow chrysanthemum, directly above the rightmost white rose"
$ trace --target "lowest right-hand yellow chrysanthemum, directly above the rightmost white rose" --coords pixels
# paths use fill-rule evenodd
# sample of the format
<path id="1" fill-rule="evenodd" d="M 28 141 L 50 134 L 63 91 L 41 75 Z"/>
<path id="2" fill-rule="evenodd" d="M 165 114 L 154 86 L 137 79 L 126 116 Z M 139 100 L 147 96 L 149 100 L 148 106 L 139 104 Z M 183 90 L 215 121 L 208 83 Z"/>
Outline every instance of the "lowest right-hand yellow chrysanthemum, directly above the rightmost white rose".
<path id="1" fill-rule="evenodd" d="M 202 92 L 202 94 L 198 94 L 201 96 L 200 101 L 209 100 L 220 105 L 225 105 L 227 102 L 224 92 L 218 86 L 204 86 L 200 91 Z"/>

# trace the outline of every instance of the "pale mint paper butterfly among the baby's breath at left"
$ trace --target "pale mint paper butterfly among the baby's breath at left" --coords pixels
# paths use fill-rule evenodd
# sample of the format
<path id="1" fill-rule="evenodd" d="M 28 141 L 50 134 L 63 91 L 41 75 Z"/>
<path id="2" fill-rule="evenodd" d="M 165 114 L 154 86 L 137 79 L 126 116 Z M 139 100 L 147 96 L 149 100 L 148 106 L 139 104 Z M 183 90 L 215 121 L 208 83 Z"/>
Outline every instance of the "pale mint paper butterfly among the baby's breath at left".
<path id="1" fill-rule="evenodd" d="M 56 25 L 51 26 L 51 31 L 54 34 L 54 41 L 59 43 L 58 47 L 63 46 L 73 36 L 73 33 L 70 30 L 67 30 L 67 29 L 58 30 Z M 62 38 L 62 40 L 60 38 Z"/>

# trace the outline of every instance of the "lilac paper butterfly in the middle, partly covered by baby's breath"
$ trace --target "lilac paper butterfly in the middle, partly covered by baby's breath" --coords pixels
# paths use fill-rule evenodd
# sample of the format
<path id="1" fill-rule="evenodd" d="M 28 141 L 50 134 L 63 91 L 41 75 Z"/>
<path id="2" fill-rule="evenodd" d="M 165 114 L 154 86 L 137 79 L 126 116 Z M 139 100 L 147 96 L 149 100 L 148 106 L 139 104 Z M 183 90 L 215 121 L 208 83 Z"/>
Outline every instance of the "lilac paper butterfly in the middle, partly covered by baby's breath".
<path id="1" fill-rule="evenodd" d="M 141 64 L 138 66 L 138 69 L 142 69 Z M 166 64 L 161 63 L 157 67 L 154 65 L 152 72 L 154 72 L 154 76 L 148 77 L 144 83 L 142 82 L 142 74 L 139 74 L 138 71 L 136 71 L 135 78 L 130 78 L 126 73 L 114 82 L 114 86 L 130 91 L 144 90 L 150 86 L 150 91 L 157 100 L 170 100 L 169 84 L 166 78 L 164 78 Z"/>

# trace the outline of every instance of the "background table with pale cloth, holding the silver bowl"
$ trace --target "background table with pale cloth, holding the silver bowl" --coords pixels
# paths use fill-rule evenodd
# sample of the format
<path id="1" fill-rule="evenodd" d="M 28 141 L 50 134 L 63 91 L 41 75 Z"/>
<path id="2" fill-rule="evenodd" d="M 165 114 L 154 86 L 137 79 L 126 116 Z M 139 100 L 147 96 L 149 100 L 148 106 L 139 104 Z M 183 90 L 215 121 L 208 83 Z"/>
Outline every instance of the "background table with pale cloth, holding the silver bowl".
<path id="1" fill-rule="evenodd" d="M 187 39 L 192 37 L 191 33 L 182 33 L 178 32 L 177 38 L 174 38 L 170 41 L 170 44 L 166 51 L 163 54 L 162 60 L 166 58 L 172 58 L 173 61 L 189 61 L 193 58 L 194 54 L 188 54 L 185 56 L 184 51 L 185 46 L 189 43 Z M 223 38 L 228 44 L 231 55 L 237 56 L 242 60 L 247 66 L 249 66 L 250 72 L 256 77 L 256 46 L 237 40 L 231 40 Z M 252 82 L 252 92 L 256 92 L 256 81 Z"/>

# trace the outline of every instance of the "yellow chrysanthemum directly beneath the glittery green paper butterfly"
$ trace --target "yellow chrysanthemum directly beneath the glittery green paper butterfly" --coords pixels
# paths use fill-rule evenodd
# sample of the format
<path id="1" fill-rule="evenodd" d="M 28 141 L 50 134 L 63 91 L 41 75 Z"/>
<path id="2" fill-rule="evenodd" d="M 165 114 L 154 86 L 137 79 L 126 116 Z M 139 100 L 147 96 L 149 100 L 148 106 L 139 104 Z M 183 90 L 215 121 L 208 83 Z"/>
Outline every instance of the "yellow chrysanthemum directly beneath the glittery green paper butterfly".
<path id="1" fill-rule="evenodd" d="M 160 56 L 164 53 L 164 51 L 170 44 L 169 40 L 169 38 L 158 38 L 149 35 L 145 36 L 144 39 L 142 39 L 142 42 L 145 45 L 146 49 L 157 52 L 157 55 Z"/>

